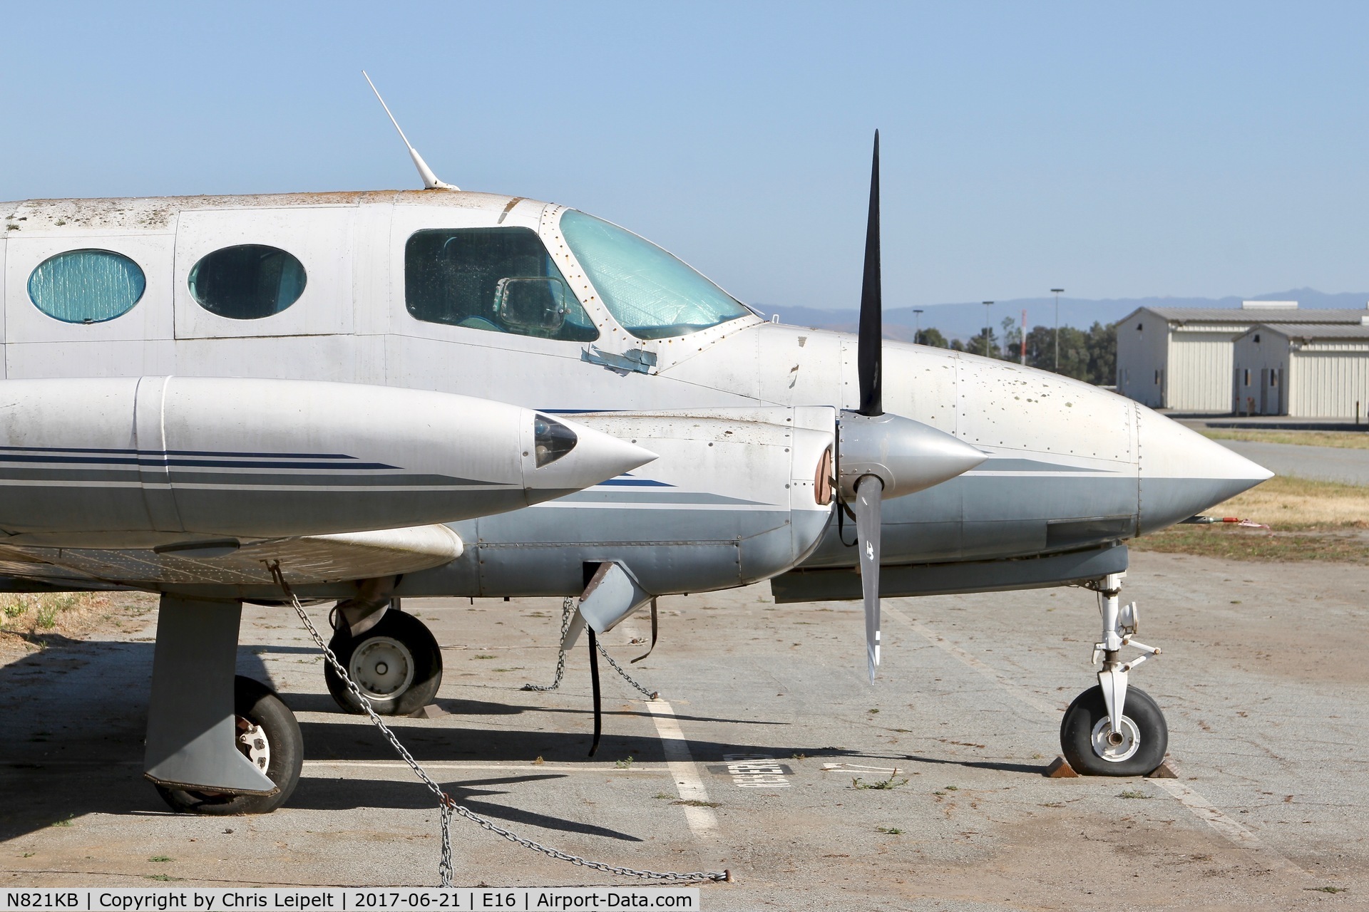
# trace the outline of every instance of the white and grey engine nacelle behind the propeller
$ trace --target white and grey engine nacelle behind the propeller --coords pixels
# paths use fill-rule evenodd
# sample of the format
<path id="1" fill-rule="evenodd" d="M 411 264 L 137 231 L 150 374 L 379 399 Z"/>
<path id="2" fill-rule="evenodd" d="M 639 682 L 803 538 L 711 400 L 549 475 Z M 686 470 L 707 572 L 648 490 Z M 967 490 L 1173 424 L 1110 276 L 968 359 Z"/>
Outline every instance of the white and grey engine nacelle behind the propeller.
<path id="1" fill-rule="evenodd" d="M 769 578 L 812 552 L 832 517 L 836 412 L 756 406 L 576 414 L 658 458 L 533 510 L 457 526 L 467 552 L 404 593 L 571 595 L 620 562 L 653 595 Z M 478 574 L 460 582 L 448 573 Z M 409 588 L 413 587 L 413 588 Z"/>

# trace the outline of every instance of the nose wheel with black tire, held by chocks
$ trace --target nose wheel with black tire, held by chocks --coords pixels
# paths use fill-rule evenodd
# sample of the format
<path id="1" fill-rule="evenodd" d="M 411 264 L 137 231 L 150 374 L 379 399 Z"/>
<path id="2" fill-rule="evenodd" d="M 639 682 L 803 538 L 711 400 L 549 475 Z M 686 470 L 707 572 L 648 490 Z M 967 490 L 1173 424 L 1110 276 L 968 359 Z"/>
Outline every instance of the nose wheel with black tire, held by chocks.
<path id="1" fill-rule="evenodd" d="M 1075 697 L 1060 723 L 1060 749 L 1080 775 L 1146 775 L 1165 760 L 1169 726 L 1150 695 L 1127 688 L 1121 744 L 1109 744 L 1110 725 L 1103 689 L 1092 686 Z"/>

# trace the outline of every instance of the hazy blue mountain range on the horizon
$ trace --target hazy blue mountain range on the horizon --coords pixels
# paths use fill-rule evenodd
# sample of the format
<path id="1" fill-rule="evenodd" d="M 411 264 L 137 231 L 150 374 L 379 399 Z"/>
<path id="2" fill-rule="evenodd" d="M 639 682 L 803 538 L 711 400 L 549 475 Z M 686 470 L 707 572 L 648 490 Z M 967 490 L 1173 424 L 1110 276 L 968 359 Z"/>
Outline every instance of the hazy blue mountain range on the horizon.
<path id="1" fill-rule="evenodd" d="M 1116 323 L 1136 308 L 1239 308 L 1242 301 L 1296 301 L 1299 308 L 1365 308 L 1369 304 L 1369 293 L 1342 293 L 1327 294 L 1316 289 L 1292 289 L 1291 291 L 1275 291 L 1270 294 L 1255 294 L 1247 297 L 1228 298 L 1103 298 L 1099 301 L 1088 298 L 1060 298 L 1060 325 L 1079 327 L 1087 330 L 1097 320 L 1098 323 Z M 765 305 L 757 305 L 763 313 L 771 310 Z M 930 304 L 921 308 L 923 313 L 913 313 L 913 308 L 890 308 L 884 310 L 884 336 L 888 339 L 913 340 L 916 327 L 936 327 L 947 339 L 969 339 L 984 328 L 984 305 L 977 301 L 967 304 Z M 1013 323 L 1021 319 L 1021 312 L 1027 310 L 1027 327 L 1055 324 L 1055 299 L 1051 298 L 1013 298 L 1012 301 L 995 301 L 987 308 L 988 321 L 995 334 L 1002 334 L 1003 317 L 1012 317 Z M 839 330 L 854 332 L 858 323 L 856 310 L 820 310 L 817 308 L 779 308 L 780 323 L 790 323 L 815 330 Z"/>

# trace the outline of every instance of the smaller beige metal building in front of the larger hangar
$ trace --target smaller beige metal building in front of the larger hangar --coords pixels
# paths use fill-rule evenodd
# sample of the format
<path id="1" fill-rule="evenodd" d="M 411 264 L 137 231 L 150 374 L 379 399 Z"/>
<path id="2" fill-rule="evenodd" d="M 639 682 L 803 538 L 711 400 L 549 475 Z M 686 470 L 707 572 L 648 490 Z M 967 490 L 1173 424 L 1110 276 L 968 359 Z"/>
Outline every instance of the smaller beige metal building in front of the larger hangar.
<path id="1" fill-rule="evenodd" d="M 1236 338 L 1235 410 L 1307 418 L 1369 407 L 1369 325 L 1259 324 Z"/>

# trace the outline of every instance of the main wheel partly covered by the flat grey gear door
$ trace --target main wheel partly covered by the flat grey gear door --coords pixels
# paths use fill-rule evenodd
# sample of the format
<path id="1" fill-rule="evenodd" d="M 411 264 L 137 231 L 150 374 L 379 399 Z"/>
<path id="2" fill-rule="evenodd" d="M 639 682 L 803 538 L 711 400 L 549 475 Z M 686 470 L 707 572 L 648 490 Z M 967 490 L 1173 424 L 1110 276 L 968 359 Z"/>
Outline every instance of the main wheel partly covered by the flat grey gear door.
<path id="1" fill-rule="evenodd" d="M 233 715 L 238 730 L 237 748 L 275 783 L 275 794 L 227 794 L 156 786 L 157 794 L 172 811 L 208 815 L 268 814 L 294 793 L 304 764 L 304 737 L 290 708 L 271 688 L 238 675 L 233 678 Z"/>

